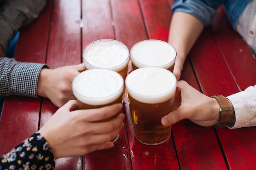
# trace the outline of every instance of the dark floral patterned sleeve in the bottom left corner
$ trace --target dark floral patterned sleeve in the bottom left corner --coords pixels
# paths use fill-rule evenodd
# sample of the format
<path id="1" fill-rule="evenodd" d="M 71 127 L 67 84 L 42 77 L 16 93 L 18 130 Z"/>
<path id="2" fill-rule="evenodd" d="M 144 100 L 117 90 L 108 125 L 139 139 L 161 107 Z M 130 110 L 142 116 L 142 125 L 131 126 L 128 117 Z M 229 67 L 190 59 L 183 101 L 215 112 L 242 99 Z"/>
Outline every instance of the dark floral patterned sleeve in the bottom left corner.
<path id="1" fill-rule="evenodd" d="M 34 133 L 0 158 L 0 170 L 51 170 L 54 166 L 54 155 L 40 133 Z"/>

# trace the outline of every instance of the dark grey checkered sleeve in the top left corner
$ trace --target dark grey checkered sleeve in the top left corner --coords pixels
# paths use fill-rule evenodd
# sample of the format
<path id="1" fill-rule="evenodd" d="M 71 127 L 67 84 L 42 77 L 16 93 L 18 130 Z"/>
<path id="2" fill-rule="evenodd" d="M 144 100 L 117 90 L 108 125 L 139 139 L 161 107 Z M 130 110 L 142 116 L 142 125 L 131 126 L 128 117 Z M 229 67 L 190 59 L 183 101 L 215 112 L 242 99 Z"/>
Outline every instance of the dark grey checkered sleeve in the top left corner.
<path id="1" fill-rule="evenodd" d="M 22 26 L 36 19 L 46 0 L 0 0 L 0 45 L 6 52 Z"/>

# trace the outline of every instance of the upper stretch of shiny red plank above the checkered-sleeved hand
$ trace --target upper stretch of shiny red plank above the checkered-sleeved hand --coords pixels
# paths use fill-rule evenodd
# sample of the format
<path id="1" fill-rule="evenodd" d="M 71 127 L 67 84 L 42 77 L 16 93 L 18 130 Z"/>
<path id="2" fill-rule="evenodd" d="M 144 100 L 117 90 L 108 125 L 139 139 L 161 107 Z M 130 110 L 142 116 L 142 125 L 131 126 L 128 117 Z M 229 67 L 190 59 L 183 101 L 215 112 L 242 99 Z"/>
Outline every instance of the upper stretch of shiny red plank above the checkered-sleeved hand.
<path id="1" fill-rule="evenodd" d="M 81 63 L 80 0 L 54 0 L 46 63 L 50 68 Z"/>

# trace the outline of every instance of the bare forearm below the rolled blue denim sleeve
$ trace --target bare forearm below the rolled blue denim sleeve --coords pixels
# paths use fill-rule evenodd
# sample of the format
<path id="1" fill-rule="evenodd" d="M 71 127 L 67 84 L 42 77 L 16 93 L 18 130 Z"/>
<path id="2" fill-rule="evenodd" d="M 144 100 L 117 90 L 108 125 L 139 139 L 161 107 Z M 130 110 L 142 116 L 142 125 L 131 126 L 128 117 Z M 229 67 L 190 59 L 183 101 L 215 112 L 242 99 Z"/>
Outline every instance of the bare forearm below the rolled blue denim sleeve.
<path id="1" fill-rule="evenodd" d="M 175 12 L 173 14 L 168 42 L 177 51 L 176 63 L 181 64 L 180 70 L 182 70 L 186 56 L 202 33 L 203 28 L 203 24 L 193 15 L 184 12 Z"/>

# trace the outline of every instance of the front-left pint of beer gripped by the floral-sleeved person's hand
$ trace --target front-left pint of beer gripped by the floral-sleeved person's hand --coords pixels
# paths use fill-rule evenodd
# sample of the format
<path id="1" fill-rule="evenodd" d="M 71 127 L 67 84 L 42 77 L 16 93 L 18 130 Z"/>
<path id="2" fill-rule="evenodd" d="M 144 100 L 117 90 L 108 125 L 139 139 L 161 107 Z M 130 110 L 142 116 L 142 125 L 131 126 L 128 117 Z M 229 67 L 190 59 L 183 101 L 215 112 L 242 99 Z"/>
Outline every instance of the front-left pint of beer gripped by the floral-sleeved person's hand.
<path id="1" fill-rule="evenodd" d="M 76 109 L 95 109 L 121 103 L 124 80 L 120 74 L 112 70 L 85 70 L 74 78 L 72 89 Z M 101 121 L 111 120 L 117 115 Z M 119 135 L 112 142 L 115 142 L 118 137 Z"/>

